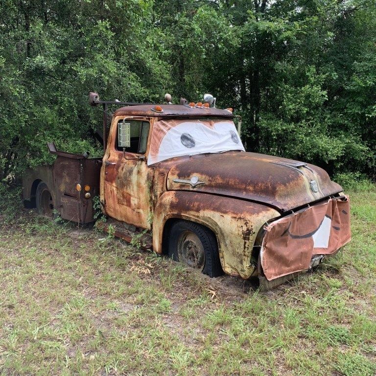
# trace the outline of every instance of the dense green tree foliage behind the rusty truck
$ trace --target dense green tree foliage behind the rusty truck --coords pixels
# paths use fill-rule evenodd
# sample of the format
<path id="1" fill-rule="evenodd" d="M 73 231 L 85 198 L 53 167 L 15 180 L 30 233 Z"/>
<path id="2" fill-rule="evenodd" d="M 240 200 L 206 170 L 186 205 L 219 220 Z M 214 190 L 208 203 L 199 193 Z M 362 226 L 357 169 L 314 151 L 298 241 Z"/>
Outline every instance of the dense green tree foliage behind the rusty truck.
<path id="1" fill-rule="evenodd" d="M 3 0 L 0 178 L 100 153 L 102 98 L 200 100 L 258 151 L 375 177 L 374 0 Z"/>

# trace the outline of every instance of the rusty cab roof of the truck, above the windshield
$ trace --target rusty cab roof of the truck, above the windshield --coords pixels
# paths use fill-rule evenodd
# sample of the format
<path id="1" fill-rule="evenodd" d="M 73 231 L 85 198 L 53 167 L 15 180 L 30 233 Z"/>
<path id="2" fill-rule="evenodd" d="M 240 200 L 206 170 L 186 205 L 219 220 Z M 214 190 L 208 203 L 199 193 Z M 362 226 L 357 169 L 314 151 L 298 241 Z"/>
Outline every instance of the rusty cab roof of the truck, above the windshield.
<path id="1" fill-rule="evenodd" d="M 158 113 L 153 111 L 156 106 L 161 106 L 163 108 L 163 113 Z M 221 118 L 234 118 L 234 115 L 228 110 L 221 110 L 219 108 L 212 107 L 189 107 L 185 105 L 175 105 L 175 104 L 142 104 L 137 106 L 126 106 L 121 107 L 115 112 L 115 116 L 125 115 L 125 116 L 145 116 L 145 117 L 187 117 L 187 116 L 213 116 Z"/>

